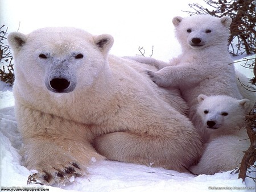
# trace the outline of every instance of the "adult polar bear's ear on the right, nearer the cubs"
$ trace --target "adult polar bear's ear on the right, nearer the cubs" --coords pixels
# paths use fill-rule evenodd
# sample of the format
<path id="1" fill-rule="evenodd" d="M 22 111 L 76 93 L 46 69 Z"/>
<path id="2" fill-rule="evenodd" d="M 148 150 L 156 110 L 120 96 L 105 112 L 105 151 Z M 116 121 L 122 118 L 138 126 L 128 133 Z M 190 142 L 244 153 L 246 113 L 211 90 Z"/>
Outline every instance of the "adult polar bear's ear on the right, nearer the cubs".
<path id="1" fill-rule="evenodd" d="M 109 52 L 110 48 L 114 43 L 113 37 L 108 34 L 93 36 L 93 40 L 97 47 L 100 49 L 100 51 L 104 54 Z"/>

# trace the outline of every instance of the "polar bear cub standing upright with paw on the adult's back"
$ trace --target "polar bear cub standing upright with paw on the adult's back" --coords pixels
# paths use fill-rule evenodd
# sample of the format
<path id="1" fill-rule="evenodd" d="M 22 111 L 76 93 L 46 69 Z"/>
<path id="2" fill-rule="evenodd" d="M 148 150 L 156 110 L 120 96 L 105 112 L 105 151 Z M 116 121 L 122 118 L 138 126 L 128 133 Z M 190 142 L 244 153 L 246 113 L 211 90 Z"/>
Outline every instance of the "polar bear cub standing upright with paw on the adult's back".
<path id="1" fill-rule="evenodd" d="M 159 86 L 179 87 L 189 106 L 189 119 L 207 141 L 209 135 L 196 114 L 197 96 L 229 95 L 243 98 L 227 49 L 232 19 L 228 16 L 193 15 L 187 18 L 176 16 L 172 22 L 182 53 L 169 64 L 157 61 L 153 65 L 160 70 L 148 70 L 147 73 Z"/>

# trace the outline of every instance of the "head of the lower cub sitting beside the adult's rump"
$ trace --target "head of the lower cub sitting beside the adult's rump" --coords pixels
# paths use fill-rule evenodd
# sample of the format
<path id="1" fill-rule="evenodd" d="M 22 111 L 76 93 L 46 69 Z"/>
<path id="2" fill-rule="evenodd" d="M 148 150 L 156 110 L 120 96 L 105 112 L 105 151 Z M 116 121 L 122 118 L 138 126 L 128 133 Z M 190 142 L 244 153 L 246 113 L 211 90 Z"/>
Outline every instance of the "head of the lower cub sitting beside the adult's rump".
<path id="1" fill-rule="evenodd" d="M 225 131 L 245 126 L 245 113 L 250 106 L 248 99 L 235 99 L 226 95 L 197 97 L 197 113 L 205 128 Z"/>

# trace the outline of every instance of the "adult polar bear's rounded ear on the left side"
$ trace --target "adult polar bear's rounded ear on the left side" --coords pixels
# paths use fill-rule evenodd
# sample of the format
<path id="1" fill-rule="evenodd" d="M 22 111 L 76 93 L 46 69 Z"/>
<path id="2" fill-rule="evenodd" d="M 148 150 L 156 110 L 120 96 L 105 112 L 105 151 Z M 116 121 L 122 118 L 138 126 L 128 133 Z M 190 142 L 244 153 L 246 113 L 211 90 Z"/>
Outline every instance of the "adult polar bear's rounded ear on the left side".
<path id="1" fill-rule="evenodd" d="M 13 51 L 19 51 L 27 41 L 27 36 L 20 32 L 11 32 L 7 36 L 8 44 Z"/>

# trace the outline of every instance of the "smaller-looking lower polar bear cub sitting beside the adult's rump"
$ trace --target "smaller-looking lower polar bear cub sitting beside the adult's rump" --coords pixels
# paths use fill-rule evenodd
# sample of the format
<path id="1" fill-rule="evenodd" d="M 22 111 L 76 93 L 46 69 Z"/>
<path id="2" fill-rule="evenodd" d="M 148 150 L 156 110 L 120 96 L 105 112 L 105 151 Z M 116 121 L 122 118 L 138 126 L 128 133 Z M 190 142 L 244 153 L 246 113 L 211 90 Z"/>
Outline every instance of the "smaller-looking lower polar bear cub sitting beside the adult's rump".
<path id="1" fill-rule="evenodd" d="M 245 114 L 249 99 L 235 99 L 226 95 L 199 95 L 200 115 L 210 139 L 199 164 L 190 169 L 195 174 L 214 174 L 237 168 L 250 146 L 245 128 Z"/>

